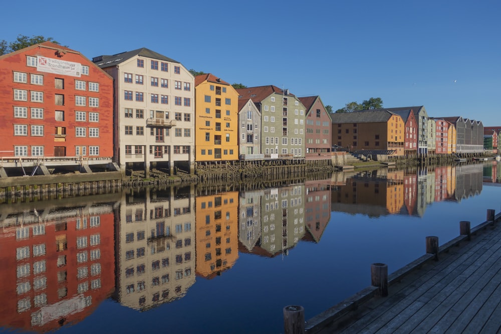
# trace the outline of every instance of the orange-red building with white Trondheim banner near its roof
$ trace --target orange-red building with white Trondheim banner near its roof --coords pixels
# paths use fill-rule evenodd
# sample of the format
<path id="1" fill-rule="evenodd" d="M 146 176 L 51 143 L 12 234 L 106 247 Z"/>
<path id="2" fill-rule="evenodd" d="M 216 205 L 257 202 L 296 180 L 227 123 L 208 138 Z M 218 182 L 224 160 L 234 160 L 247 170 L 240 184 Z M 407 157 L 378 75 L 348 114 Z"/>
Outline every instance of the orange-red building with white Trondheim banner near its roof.
<path id="1" fill-rule="evenodd" d="M 82 54 L 44 42 L 0 56 L 0 86 L 2 156 L 111 162 L 113 80 Z"/>

